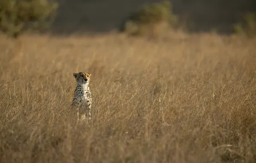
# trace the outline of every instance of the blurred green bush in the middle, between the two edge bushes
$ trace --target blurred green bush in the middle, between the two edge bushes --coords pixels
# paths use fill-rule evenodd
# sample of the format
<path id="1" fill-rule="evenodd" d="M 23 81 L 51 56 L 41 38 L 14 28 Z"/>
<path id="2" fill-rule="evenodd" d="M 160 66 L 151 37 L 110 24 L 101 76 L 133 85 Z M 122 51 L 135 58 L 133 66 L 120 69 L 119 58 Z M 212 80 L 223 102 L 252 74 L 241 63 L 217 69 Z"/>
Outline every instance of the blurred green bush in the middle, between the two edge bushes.
<path id="1" fill-rule="evenodd" d="M 158 35 L 163 30 L 176 27 L 177 20 L 177 16 L 172 13 L 171 3 L 167 0 L 144 5 L 125 20 L 121 30 L 131 35 Z"/>

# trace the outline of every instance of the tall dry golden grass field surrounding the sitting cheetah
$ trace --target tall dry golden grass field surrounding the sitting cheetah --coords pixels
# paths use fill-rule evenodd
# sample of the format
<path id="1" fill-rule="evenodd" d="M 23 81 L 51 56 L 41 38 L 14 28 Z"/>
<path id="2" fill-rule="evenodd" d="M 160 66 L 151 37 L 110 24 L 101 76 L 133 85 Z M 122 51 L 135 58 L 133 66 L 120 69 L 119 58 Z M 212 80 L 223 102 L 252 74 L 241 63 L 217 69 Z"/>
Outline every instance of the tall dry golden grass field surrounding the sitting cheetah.
<path id="1" fill-rule="evenodd" d="M 93 120 L 70 110 L 90 72 Z M 254 163 L 256 40 L 0 38 L 1 163 Z"/>

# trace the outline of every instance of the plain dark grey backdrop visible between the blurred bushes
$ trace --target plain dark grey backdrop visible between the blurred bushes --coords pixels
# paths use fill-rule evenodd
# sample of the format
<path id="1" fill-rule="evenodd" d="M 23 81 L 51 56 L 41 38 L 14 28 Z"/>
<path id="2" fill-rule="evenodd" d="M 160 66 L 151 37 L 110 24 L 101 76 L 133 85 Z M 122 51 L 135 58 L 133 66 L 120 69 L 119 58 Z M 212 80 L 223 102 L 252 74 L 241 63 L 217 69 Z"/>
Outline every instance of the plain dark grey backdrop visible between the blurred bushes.
<path id="1" fill-rule="evenodd" d="M 231 33 L 246 12 L 256 11 L 256 0 L 170 0 L 173 13 L 190 32 Z M 54 34 L 108 32 L 145 3 L 162 0 L 58 0 L 59 8 L 50 31 Z"/>

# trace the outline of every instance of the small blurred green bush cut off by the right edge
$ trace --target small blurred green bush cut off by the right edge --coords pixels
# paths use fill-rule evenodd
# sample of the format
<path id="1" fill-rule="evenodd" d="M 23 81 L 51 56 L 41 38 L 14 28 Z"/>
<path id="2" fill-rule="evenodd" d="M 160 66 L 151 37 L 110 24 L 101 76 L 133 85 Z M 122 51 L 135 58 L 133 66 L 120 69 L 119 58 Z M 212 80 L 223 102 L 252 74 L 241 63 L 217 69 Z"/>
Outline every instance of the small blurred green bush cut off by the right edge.
<path id="1" fill-rule="evenodd" d="M 236 24 L 235 33 L 242 34 L 247 37 L 256 36 L 256 13 L 247 13 L 243 16 L 243 22 Z"/>

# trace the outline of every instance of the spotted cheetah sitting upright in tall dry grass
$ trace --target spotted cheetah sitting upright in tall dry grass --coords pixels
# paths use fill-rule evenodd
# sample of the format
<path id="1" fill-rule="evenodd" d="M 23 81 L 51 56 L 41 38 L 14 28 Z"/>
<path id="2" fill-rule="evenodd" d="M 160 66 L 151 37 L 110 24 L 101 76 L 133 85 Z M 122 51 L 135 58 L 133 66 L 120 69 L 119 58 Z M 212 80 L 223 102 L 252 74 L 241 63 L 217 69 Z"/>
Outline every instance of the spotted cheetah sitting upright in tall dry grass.
<path id="1" fill-rule="evenodd" d="M 91 119 L 91 91 L 89 82 L 91 74 L 88 72 L 73 73 L 76 78 L 77 86 L 74 91 L 72 107 L 77 109 L 78 121 L 86 121 Z"/>

